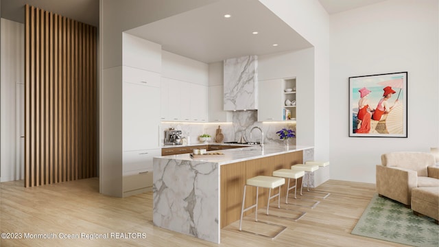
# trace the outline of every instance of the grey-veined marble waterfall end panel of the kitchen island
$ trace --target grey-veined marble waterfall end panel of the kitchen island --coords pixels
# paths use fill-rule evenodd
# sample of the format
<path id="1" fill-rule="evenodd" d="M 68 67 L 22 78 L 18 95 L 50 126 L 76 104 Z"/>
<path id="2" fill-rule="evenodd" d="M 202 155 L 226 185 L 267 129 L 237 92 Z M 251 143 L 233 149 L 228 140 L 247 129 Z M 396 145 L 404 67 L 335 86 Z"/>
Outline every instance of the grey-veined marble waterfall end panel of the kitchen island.
<path id="1" fill-rule="evenodd" d="M 219 244 L 219 165 L 154 158 L 154 225 Z"/>

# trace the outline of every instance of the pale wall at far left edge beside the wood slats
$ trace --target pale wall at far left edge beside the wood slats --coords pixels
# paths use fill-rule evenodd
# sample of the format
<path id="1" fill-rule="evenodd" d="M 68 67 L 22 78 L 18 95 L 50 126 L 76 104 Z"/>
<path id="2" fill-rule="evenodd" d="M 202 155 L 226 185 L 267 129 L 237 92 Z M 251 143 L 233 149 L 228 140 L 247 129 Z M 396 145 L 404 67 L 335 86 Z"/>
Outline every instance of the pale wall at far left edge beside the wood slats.
<path id="1" fill-rule="evenodd" d="M 16 89 L 24 82 L 24 25 L 1 19 L 0 182 L 23 179 L 16 150 Z M 20 135 L 20 134 L 19 134 Z"/>

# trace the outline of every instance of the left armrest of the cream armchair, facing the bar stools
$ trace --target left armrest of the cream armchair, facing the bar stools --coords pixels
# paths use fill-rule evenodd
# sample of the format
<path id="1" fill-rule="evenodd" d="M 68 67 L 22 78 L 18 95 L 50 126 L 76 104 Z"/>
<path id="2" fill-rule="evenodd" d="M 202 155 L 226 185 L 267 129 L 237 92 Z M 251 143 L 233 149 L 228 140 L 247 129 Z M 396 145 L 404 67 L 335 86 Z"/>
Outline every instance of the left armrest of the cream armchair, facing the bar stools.
<path id="1" fill-rule="evenodd" d="M 400 167 L 377 165 L 377 192 L 410 205 L 412 189 L 418 187 L 418 173 Z"/>

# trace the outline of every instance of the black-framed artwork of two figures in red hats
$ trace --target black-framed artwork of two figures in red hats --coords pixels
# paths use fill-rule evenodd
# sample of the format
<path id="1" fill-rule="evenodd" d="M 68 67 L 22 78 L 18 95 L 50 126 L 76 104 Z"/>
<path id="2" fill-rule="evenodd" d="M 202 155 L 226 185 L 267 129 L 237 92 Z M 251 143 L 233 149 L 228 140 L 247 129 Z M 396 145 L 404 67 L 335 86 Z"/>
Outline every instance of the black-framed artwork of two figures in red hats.
<path id="1" fill-rule="evenodd" d="M 407 72 L 349 78 L 349 137 L 407 138 Z"/>

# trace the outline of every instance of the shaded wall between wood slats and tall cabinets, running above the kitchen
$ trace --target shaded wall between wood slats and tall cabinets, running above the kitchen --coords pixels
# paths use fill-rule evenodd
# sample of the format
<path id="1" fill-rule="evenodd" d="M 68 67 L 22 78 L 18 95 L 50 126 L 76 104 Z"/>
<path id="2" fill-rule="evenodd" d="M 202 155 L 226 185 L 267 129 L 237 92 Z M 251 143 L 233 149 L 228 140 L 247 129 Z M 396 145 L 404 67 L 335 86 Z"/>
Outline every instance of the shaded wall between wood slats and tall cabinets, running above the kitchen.
<path id="1" fill-rule="evenodd" d="M 99 192 L 120 196 L 121 178 L 104 169 L 119 169 L 121 152 L 122 32 L 200 7 L 214 0 L 99 0 Z M 119 172 L 119 171 L 118 171 Z M 114 180 L 114 181 L 113 181 Z M 117 186 L 111 186 L 111 183 Z"/>

